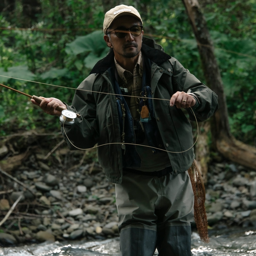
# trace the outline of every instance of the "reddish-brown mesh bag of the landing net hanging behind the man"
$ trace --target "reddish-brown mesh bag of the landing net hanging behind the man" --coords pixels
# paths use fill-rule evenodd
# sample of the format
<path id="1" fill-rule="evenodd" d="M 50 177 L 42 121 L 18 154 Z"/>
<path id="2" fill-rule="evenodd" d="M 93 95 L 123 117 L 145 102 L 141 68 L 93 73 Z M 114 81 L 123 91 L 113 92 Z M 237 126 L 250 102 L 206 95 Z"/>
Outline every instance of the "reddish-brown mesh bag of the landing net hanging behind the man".
<path id="1" fill-rule="evenodd" d="M 208 221 L 205 210 L 205 187 L 198 169 L 196 161 L 194 160 L 192 166 L 188 170 L 189 177 L 192 183 L 193 192 L 195 195 L 194 201 L 194 218 L 198 234 L 202 241 L 209 242 L 208 236 Z"/>

